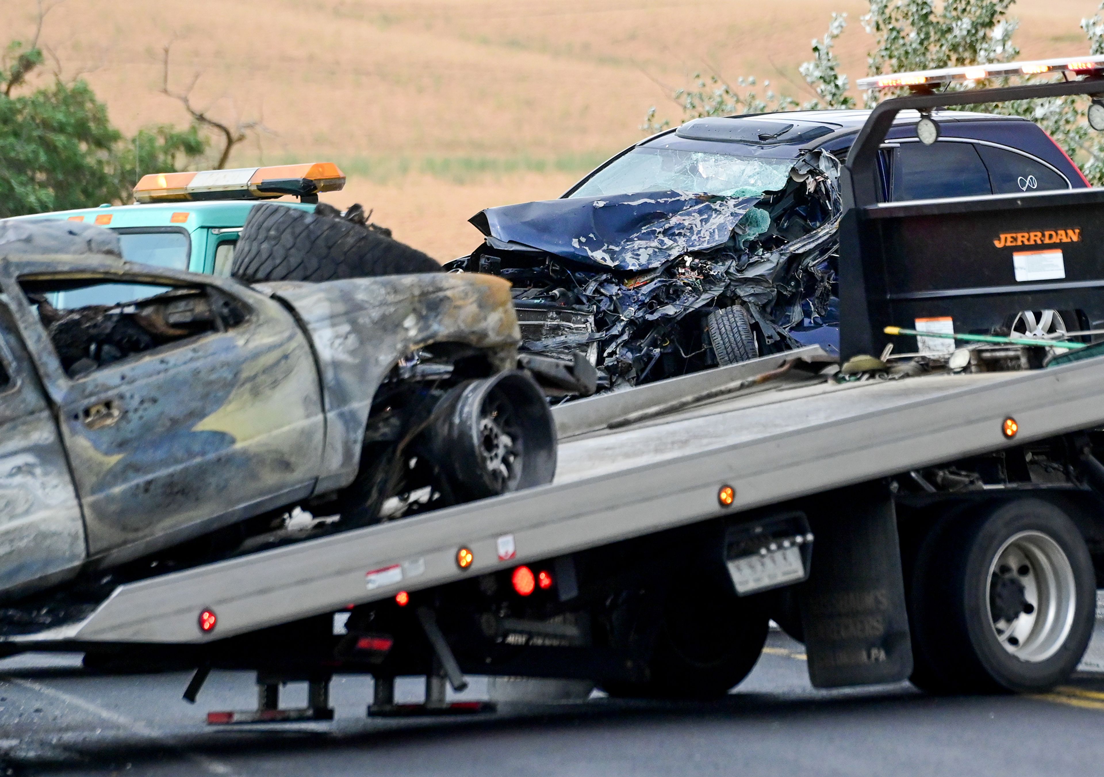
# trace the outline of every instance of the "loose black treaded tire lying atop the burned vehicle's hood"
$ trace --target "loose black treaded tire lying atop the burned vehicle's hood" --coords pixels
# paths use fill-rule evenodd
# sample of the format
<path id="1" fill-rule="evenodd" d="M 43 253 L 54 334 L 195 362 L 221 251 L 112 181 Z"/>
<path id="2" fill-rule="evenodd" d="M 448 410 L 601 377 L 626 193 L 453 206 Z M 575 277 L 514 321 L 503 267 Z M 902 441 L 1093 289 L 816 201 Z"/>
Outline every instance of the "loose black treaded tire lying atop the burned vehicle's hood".
<path id="1" fill-rule="evenodd" d="M 257 283 L 439 272 L 432 257 L 361 224 L 264 202 L 245 220 L 231 275 Z"/>

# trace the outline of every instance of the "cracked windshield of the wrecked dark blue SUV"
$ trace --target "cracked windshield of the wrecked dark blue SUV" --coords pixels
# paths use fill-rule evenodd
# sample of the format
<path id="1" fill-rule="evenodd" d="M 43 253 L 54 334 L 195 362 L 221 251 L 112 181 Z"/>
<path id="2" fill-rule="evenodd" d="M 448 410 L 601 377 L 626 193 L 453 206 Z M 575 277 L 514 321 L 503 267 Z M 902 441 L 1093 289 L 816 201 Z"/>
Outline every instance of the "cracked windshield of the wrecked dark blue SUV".
<path id="1" fill-rule="evenodd" d="M 736 157 L 672 148 L 635 148 L 570 196 L 611 196 L 639 192 L 677 191 L 692 194 L 746 195 L 786 185 L 792 159 Z"/>

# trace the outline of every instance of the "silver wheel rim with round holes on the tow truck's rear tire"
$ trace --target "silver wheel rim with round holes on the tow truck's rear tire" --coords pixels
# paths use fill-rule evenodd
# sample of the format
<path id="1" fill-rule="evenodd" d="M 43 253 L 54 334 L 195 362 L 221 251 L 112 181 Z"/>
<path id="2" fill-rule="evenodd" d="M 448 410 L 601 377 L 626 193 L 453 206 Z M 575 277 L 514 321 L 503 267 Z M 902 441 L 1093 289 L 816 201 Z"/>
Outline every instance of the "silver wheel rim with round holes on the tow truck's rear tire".
<path id="1" fill-rule="evenodd" d="M 1058 652 L 1073 628 L 1076 583 L 1053 539 L 1013 534 L 994 555 L 986 585 L 989 622 L 1006 651 L 1031 663 Z"/>

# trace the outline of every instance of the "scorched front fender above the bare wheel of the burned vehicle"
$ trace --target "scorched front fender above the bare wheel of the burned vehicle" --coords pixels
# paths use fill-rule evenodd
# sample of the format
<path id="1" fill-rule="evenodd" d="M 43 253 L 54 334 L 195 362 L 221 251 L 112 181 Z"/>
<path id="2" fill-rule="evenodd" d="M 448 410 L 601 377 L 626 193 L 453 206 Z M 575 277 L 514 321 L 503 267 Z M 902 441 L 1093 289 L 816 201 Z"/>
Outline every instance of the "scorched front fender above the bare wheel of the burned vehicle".
<path id="1" fill-rule="evenodd" d="M 517 363 L 520 330 L 501 278 L 440 273 L 257 288 L 295 309 L 318 354 L 327 417 L 318 492 L 355 476 L 372 397 L 400 358 L 455 342 L 484 349 L 496 370 Z"/>

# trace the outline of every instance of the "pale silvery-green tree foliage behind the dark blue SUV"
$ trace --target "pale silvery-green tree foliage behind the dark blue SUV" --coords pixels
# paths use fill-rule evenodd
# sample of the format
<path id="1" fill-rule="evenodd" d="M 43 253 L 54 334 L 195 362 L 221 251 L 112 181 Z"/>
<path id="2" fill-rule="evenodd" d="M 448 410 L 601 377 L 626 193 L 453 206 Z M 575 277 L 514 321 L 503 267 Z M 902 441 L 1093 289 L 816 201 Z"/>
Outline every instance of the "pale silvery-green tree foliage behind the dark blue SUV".
<path id="1" fill-rule="evenodd" d="M 867 55 L 867 72 L 901 73 L 934 67 L 954 67 L 994 62 L 1009 62 L 1020 51 L 1012 43 L 1018 21 L 1008 17 L 1015 0 L 870 0 L 870 11 L 861 18 L 866 31 L 873 38 Z M 1104 54 L 1104 2 L 1097 13 L 1081 22 L 1093 54 Z M 839 60 L 832 52 L 835 40 L 842 33 L 846 14 L 834 13 L 822 41 L 813 41 L 813 60 L 800 65 L 799 72 L 817 98 L 804 108 L 851 108 L 856 99 L 848 94 L 849 79 L 839 72 Z M 1071 52 L 1075 54 L 1079 52 Z M 1042 76 L 1037 76 L 1036 79 Z M 693 89 L 680 89 L 675 99 L 682 107 L 683 120 L 701 116 L 731 116 L 763 110 L 788 110 L 798 106 L 785 95 L 767 92 L 763 98 L 747 92 L 754 77 L 736 81 L 729 86 L 718 76 L 710 84 L 694 75 Z M 884 94 L 867 93 L 864 104 L 872 107 Z M 1001 103 L 969 106 L 976 110 L 1023 116 L 1040 125 L 1073 157 L 1094 184 L 1104 184 L 1104 137 L 1090 129 L 1084 119 L 1089 105 L 1085 97 Z M 657 131 L 668 126 L 657 123 L 656 108 L 648 111 L 641 129 Z"/>

